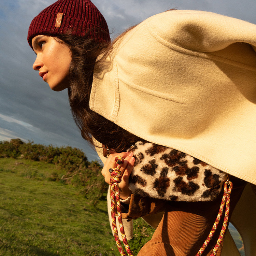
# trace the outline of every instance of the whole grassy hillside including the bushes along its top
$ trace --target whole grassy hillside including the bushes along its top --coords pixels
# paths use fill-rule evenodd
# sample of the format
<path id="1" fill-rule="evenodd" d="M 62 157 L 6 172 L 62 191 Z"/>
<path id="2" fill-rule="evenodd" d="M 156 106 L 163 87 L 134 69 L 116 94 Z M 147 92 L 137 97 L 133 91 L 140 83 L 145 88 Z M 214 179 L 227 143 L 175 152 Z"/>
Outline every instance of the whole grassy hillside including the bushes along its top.
<path id="1" fill-rule="evenodd" d="M 77 149 L 0 142 L 0 255 L 119 255 L 100 171 Z M 134 221 L 134 255 L 153 232 Z M 230 232 L 241 248 L 237 231 Z"/>

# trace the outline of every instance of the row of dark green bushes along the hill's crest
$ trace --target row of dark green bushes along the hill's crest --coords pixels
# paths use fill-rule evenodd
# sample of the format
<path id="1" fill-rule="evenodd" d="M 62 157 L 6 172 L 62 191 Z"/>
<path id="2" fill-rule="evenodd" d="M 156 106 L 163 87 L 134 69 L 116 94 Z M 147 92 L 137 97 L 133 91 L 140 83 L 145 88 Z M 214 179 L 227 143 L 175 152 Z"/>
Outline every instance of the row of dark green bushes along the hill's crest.
<path id="1" fill-rule="evenodd" d="M 81 193 L 94 204 L 103 197 L 108 185 L 101 176 L 102 166 L 98 161 L 87 160 L 78 148 L 54 147 L 53 145 L 28 143 L 20 139 L 0 141 L 0 157 L 30 159 L 53 163 L 56 172 L 47 178 L 80 187 Z"/>

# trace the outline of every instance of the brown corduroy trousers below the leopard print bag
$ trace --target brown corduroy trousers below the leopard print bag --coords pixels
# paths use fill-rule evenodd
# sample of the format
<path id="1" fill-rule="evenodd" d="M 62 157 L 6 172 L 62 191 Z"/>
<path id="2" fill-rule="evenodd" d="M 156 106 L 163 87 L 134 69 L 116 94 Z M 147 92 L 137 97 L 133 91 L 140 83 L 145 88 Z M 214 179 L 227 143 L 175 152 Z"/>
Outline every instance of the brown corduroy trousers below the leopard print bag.
<path id="1" fill-rule="evenodd" d="M 246 182 L 231 177 L 233 190 L 230 198 L 229 217 L 236 206 Z M 169 202 L 152 239 L 140 250 L 138 256 L 195 256 L 208 237 L 217 217 L 223 192 L 214 202 Z M 225 208 L 224 208 L 225 211 Z M 203 256 L 210 256 L 224 219 L 205 249 Z M 221 255 L 222 245 L 217 256 Z"/>

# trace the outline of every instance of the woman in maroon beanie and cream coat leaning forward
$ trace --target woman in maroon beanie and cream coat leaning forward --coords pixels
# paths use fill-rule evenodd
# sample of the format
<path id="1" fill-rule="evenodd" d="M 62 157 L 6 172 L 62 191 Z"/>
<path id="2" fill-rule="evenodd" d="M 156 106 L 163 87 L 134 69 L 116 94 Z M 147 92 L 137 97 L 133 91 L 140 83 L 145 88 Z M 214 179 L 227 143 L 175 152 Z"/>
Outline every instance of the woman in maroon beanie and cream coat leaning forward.
<path id="1" fill-rule="evenodd" d="M 131 194 L 135 159 L 126 150 L 138 141 L 174 148 L 228 173 L 234 187 L 230 213 L 237 205 L 234 223 L 250 234 L 243 236 L 246 253 L 255 252 L 256 203 L 250 187 L 245 189 L 250 207 L 243 204 L 244 194 L 237 203 L 246 183 L 256 184 L 255 28 L 218 14 L 173 10 L 146 19 L 110 44 L 106 22 L 89 0 L 59 0 L 31 22 L 33 68 L 53 90 L 68 88 L 82 137 L 98 151 L 102 144 L 110 149 L 102 170 L 106 182 L 115 156 L 125 158 L 119 184 L 127 203 L 124 217 L 144 217 L 156 227 L 139 255 L 196 255 L 222 194 L 209 202 Z M 251 214 L 247 225 L 246 214 Z M 211 254 L 220 229 L 203 255 Z"/>

